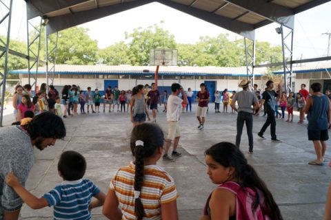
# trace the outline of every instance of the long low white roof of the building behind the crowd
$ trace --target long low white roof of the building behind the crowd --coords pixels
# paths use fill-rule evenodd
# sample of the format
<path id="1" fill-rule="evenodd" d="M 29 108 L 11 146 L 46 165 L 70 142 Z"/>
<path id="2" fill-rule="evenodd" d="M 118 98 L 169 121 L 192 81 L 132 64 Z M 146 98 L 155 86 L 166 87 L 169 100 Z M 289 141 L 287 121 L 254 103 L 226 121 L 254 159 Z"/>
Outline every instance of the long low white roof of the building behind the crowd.
<path id="1" fill-rule="evenodd" d="M 108 66 L 108 65 L 57 65 L 54 74 L 97 74 L 97 75 L 154 75 L 154 66 Z M 266 69 L 260 69 L 262 76 Z M 13 70 L 10 74 L 28 74 L 28 69 Z M 46 67 L 39 67 L 38 72 L 32 73 L 46 74 Z M 170 76 L 247 76 L 246 67 L 161 67 L 159 75 Z"/>

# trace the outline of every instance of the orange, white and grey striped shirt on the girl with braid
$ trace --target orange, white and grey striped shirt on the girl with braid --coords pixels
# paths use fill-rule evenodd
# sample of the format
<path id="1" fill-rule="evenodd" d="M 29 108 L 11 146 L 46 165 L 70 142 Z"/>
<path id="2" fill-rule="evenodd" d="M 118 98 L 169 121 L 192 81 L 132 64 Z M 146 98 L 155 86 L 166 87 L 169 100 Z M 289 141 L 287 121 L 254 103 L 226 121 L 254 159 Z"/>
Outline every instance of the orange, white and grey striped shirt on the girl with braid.
<path id="1" fill-rule="evenodd" d="M 123 220 L 135 220 L 134 215 L 134 172 L 131 162 L 128 166 L 119 168 L 110 182 L 110 190 L 114 190 L 122 210 Z M 174 179 L 157 165 L 144 167 L 141 202 L 144 209 L 144 220 L 161 219 L 161 204 L 169 203 L 178 198 Z"/>

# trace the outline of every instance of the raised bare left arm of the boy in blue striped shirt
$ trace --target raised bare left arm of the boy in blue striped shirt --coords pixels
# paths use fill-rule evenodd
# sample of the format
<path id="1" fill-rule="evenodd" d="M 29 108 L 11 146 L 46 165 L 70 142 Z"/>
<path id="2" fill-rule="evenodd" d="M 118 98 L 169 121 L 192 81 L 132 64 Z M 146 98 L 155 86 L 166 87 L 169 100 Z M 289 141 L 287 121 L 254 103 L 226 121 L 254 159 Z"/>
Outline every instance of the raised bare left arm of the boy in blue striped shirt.
<path id="1" fill-rule="evenodd" d="M 17 195 L 32 209 L 39 209 L 49 206 L 47 199 L 41 197 L 37 198 L 32 193 L 30 193 L 26 188 L 24 188 L 20 183 L 19 179 L 13 174 L 8 173 L 6 177 L 6 184 L 12 187 Z"/>

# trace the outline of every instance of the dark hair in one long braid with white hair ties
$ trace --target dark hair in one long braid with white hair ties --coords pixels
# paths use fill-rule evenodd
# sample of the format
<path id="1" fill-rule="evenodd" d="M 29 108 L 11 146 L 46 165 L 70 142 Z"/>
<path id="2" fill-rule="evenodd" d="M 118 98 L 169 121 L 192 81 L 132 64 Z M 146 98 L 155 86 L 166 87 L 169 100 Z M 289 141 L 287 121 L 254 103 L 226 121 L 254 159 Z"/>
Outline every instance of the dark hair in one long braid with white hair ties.
<path id="1" fill-rule="evenodd" d="M 163 132 L 156 124 L 139 124 L 131 133 L 130 148 L 134 156 L 134 193 L 139 192 L 139 197 L 134 200 L 134 212 L 137 220 L 143 219 L 143 203 L 140 192 L 143 187 L 143 162 L 152 157 L 158 148 L 163 146 Z"/>

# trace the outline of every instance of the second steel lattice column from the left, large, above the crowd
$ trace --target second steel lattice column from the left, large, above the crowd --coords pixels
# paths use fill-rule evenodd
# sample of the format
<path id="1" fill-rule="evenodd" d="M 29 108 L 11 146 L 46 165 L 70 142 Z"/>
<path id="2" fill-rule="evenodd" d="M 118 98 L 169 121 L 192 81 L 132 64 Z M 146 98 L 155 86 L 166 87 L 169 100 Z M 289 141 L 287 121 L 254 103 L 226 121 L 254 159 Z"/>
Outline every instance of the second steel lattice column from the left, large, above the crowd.
<path id="1" fill-rule="evenodd" d="M 27 25 L 27 42 L 28 42 L 28 72 L 29 72 L 29 84 L 34 87 L 34 91 L 37 91 L 37 78 L 39 67 L 39 52 L 41 41 L 41 23 L 43 19 L 40 17 L 39 26 L 32 24 L 32 19 L 26 20 Z M 36 47 L 37 46 L 37 47 Z M 35 69 L 35 71 L 33 70 Z M 33 74 L 34 73 L 34 74 Z M 32 81 L 31 82 L 31 78 Z M 33 89 L 32 89 L 33 90 Z"/>

